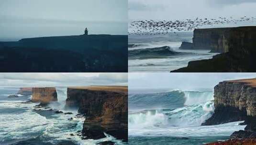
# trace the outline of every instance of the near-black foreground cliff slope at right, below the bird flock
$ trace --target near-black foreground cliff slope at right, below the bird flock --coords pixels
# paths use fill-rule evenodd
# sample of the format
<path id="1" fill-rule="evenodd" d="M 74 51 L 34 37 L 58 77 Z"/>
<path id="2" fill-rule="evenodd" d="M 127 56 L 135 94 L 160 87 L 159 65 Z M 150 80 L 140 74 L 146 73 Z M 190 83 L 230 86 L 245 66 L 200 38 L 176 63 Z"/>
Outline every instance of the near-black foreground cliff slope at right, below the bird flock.
<path id="1" fill-rule="evenodd" d="M 213 40 L 211 52 L 224 53 L 189 62 L 187 67 L 171 72 L 256 72 L 256 27 L 230 28 L 222 35 L 216 34 Z"/>

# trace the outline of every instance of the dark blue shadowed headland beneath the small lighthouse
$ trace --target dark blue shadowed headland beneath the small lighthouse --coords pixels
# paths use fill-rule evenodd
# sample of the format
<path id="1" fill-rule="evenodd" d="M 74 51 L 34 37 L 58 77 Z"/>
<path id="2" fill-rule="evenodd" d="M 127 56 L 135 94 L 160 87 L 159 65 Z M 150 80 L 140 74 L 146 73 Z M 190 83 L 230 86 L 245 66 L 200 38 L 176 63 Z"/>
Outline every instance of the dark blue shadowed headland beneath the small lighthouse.
<path id="1" fill-rule="evenodd" d="M 0 72 L 127 72 L 127 43 L 126 35 L 0 42 Z"/>

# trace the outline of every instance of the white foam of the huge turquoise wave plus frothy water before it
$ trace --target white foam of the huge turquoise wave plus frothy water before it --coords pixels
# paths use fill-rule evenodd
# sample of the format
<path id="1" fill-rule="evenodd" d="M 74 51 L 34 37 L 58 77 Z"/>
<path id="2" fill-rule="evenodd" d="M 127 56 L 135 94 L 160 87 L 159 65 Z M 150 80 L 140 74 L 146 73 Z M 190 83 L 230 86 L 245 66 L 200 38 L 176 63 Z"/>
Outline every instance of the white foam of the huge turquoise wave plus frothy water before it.
<path id="1" fill-rule="evenodd" d="M 182 92 L 186 99 L 184 107 L 130 113 L 128 115 L 129 135 L 177 137 L 229 136 L 234 131 L 245 128 L 245 125 L 238 125 L 241 122 L 201 126 L 214 113 L 213 92 Z"/>

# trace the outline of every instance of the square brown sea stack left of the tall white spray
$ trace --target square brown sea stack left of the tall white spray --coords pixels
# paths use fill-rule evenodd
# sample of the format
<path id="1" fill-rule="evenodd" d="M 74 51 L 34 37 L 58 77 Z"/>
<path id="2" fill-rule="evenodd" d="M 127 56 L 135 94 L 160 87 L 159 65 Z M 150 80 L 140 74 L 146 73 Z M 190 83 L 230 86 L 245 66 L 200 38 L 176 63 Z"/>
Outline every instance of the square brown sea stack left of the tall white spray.
<path id="1" fill-rule="evenodd" d="M 41 104 L 48 104 L 57 101 L 56 88 L 32 88 L 32 102 L 40 102 Z"/>

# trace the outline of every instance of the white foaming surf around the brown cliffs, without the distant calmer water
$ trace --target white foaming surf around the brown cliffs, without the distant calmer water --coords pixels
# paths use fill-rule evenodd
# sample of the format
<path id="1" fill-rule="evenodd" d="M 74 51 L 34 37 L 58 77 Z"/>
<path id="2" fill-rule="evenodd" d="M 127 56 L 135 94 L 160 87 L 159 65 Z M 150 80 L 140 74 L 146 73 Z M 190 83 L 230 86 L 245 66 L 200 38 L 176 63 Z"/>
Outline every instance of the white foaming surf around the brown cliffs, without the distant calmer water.
<path id="1" fill-rule="evenodd" d="M 61 105 L 51 104 L 53 109 L 62 108 L 65 104 L 67 91 L 64 88 L 57 89 L 58 101 Z M 62 91 L 62 92 L 61 92 Z M 7 97 L 6 97 L 7 98 Z M 0 144 L 8 143 L 13 140 L 26 140 L 31 138 L 54 138 L 48 141 L 56 144 L 58 140 L 69 140 L 78 145 L 96 145 L 103 141 L 112 141 L 117 145 L 122 145 L 122 141 L 116 140 L 114 137 L 107 135 L 99 140 L 82 140 L 80 136 L 70 135 L 76 134 L 83 128 L 84 117 L 78 117 L 74 120 L 68 120 L 76 115 L 77 111 L 68 111 L 73 114 L 51 114 L 45 117 L 33 111 L 35 105 L 39 103 L 22 103 L 21 101 L 0 101 Z M 47 112 L 47 109 L 42 111 Z M 65 111 L 64 111 L 65 112 Z M 50 112 L 49 112 L 50 113 Z"/>

